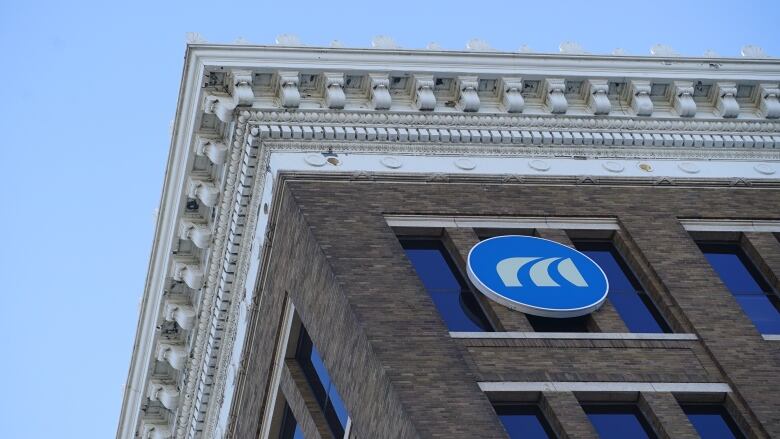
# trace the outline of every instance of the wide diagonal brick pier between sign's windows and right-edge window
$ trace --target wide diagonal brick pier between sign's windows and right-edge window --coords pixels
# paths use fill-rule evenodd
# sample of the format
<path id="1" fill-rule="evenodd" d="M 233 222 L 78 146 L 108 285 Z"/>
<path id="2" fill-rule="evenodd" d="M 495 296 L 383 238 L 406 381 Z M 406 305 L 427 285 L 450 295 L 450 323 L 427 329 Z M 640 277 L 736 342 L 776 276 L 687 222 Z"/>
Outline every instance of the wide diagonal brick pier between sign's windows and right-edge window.
<path id="1" fill-rule="evenodd" d="M 620 221 L 726 375 L 751 430 L 780 437 L 776 351 L 766 348 L 688 232 L 673 216 L 626 215 Z"/>

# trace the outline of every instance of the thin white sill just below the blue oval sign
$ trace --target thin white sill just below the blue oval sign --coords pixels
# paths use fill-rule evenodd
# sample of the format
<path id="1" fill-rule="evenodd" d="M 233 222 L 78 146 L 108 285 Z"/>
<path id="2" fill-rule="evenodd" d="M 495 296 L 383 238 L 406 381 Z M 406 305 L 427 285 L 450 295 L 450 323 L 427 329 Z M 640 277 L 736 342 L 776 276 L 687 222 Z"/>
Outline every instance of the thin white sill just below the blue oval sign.
<path id="1" fill-rule="evenodd" d="M 555 339 L 555 340 L 698 340 L 696 334 L 644 332 L 458 332 L 452 338 L 468 339 Z"/>

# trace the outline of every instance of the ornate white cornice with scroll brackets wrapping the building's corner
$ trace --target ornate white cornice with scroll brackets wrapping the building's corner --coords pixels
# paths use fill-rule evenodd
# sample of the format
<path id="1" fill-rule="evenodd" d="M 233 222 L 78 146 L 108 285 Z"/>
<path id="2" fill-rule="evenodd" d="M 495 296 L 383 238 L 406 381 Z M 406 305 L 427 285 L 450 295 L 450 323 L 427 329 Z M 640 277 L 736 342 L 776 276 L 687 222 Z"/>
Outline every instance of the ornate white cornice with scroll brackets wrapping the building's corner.
<path id="1" fill-rule="evenodd" d="M 557 172 L 530 158 L 719 159 L 747 163 L 743 183 L 767 181 L 780 163 L 778 84 L 774 59 L 188 46 L 118 437 L 229 428 L 263 260 L 258 210 L 273 205 L 277 171 L 394 172 L 377 154 L 425 157 L 402 172 L 434 176 L 471 172 L 437 162 L 452 156 L 495 175 Z M 330 169 L 292 153 L 327 151 L 355 160 Z"/>

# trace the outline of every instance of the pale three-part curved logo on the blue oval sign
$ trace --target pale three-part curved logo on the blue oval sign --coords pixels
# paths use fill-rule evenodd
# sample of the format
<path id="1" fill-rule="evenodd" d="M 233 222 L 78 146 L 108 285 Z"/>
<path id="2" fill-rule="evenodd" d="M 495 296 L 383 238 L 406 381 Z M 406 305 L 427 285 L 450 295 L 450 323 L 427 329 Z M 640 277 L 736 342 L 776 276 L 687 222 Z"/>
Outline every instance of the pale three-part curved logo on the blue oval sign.
<path id="1" fill-rule="evenodd" d="M 533 282 L 537 287 L 559 287 L 560 284 L 555 282 L 555 280 L 550 277 L 550 265 L 560 259 L 563 258 L 506 258 L 502 259 L 498 262 L 498 264 L 496 264 L 496 271 L 498 272 L 498 277 L 501 278 L 501 282 L 503 282 L 505 286 L 522 287 L 523 285 L 520 283 L 520 279 L 518 279 L 517 276 L 518 271 L 520 271 L 520 269 L 529 262 L 537 261 L 531 265 L 531 269 L 529 270 L 531 282 Z M 571 258 L 563 259 L 558 264 L 557 268 L 558 274 L 569 281 L 572 285 L 577 287 L 588 286 L 588 283 L 585 282 L 585 279 L 583 279 L 582 274 L 574 265 L 574 262 L 572 262 Z"/>

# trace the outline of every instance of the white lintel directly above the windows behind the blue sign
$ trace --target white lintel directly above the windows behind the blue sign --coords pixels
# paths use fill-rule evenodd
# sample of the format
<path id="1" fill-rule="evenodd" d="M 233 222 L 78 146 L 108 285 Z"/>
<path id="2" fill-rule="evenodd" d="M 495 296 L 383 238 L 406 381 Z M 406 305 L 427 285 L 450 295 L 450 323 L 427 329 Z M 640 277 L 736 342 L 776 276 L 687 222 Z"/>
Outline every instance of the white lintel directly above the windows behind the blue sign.
<path id="1" fill-rule="evenodd" d="M 614 218 L 386 215 L 390 227 L 619 230 Z"/>

